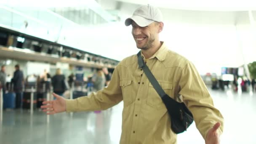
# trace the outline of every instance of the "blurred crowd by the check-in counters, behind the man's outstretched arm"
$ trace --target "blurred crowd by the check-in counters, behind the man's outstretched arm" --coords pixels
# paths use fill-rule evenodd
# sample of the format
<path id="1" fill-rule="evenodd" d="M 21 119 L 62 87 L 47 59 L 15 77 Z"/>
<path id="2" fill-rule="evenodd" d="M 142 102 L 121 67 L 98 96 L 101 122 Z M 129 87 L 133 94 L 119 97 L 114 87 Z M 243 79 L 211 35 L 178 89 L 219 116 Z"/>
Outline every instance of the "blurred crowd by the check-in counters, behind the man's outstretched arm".
<path id="1" fill-rule="evenodd" d="M 5 65 L 1 66 L 0 70 L 0 88 L 3 91 L 3 96 L 15 97 L 15 108 L 22 108 L 23 95 L 32 88 L 37 93 L 52 91 L 60 96 L 64 96 L 64 93 L 72 88 L 73 95 L 77 98 L 103 89 L 109 84 L 110 79 L 111 73 L 106 67 L 96 68 L 93 75 L 88 75 L 88 77 L 82 75 L 81 78 L 74 73 L 66 78 L 60 68 L 56 69 L 53 76 L 44 70 L 41 75 L 28 75 L 25 78 L 19 64 L 15 65 L 13 77 L 6 75 Z"/>

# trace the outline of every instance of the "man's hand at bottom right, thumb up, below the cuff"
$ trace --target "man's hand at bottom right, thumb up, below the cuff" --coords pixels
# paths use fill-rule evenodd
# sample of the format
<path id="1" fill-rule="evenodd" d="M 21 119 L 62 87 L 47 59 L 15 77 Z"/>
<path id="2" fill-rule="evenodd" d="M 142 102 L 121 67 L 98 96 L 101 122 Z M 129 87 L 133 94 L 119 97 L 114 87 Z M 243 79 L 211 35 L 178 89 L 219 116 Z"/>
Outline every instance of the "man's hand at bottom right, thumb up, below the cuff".
<path id="1" fill-rule="evenodd" d="M 220 126 L 221 123 L 218 122 L 208 131 L 205 144 L 220 144 L 220 134 L 218 133 L 218 128 Z"/>

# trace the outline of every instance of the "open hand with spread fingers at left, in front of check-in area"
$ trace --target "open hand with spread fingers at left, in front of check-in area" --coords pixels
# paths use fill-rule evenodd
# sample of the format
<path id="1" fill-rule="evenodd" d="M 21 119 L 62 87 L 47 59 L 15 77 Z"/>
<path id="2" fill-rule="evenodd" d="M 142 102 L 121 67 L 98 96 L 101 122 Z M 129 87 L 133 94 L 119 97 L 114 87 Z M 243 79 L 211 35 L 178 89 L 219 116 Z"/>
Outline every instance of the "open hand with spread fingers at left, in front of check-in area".
<path id="1" fill-rule="evenodd" d="M 43 109 L 43 112 L 46 112 L 47 115 L 53 115 L 59 112 L 65 112 L 66 111 L 66 101 L 63 97 L 57 95 L 56 93 L 53 93 L 53 96 L 56 98 L 53 101 L 44 101 L 43 106 L 41 106 L 41 109 Z"/>

